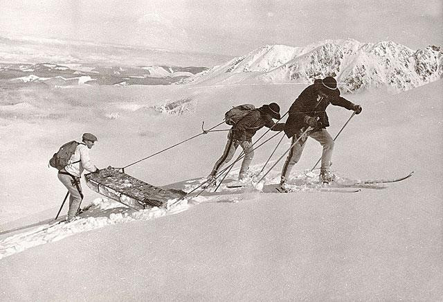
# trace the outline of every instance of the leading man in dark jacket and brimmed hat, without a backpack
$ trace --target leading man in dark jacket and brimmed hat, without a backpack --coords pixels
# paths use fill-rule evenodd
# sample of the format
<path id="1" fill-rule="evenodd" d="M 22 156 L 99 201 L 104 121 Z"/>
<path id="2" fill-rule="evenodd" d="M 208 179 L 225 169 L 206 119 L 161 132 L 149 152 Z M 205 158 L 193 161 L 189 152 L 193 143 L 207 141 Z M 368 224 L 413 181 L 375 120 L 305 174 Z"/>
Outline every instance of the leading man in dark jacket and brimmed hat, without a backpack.
<path id="1" fill-rule="evenodd" d="M 315 80 L 313 85 L 302 91 L 289 108 L 289 117 L 284 127 L 284 133 L 292 139 L 292 143 L 300 138 L 302 133 L 307 130 L 307 127 L 310 126 L 313 130 L 307 132 L 307 135 L 302 137 L 289 151 L 288 157 L 284 162 L 280 181 L 283 188 L 293 165 L 298 162 L 302 155 L 307 136 L 311 136 L 311 138 L 323 146 L 320 181 L 324 183 L 334 181 L 334 175 L 329 171 L 334 140 L 326 131 L 326 127 L 329 127 L 329 121 L 325 110 L 329 104 L 354 110 L 356 114 L 361 112 L 360 105 L 354 105 L 354 103 L 340 96 L 337 82 L 332 77 Z"/>

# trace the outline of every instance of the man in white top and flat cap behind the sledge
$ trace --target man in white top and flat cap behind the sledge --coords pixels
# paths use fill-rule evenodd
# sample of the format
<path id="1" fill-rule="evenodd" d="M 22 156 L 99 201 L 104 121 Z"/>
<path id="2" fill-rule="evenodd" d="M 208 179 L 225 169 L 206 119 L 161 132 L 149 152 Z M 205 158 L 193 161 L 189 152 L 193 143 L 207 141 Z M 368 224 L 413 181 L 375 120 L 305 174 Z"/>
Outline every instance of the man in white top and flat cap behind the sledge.
<path id="1" fill-rule="evenodd" d="M 89 158 L 89 149 L 98 141 L 97 137 L 91 133 L 84 133 L 82 143 L 75 148 L 74 154 L 69 159 L 67 166 L 58 172 L 58 179 L 69 190 L 69 211 L 67 221 L 74 220 L 82 203 L 83 193 L 80 185 L 80 177 L 82 172 L 99 172 L 98 168 L 93 165 Z"/>

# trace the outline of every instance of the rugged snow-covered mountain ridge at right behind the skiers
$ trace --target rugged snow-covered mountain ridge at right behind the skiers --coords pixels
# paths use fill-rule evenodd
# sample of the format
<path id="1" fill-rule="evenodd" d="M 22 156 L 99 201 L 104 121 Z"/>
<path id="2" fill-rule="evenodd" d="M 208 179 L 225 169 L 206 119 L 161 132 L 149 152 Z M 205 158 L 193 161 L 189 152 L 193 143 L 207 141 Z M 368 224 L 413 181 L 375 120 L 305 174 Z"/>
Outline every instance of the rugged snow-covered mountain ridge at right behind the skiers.
<path id="1" fill-rule="evenodd" d="M 344 92 L 386 87 L 406 91 L 442 78 L 440 46 L 412 49 L 391 41 L 325 40 L 305 47 L 266 45 L 194 77 L 205 85 L 247 82 L 311 83 L 331 75 Z"/>

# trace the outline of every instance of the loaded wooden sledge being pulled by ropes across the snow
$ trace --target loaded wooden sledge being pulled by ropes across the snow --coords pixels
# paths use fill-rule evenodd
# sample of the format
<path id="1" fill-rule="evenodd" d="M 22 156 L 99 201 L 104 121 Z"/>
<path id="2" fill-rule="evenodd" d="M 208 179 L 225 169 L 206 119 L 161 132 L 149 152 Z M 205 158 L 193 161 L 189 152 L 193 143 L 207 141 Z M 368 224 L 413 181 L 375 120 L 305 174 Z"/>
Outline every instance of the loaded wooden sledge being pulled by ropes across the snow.
<path id="1" fill-rule="evenodd" d="M 84 175 L 86 183 L 92 190 L 116 200 L 134 210 L 165 207 L 168 200 L 177 199 L 186 195 L 182 190 L 164 190 L 147 184 L 125 174 L 118 168 L 108 167 L 99 173 Z"/>

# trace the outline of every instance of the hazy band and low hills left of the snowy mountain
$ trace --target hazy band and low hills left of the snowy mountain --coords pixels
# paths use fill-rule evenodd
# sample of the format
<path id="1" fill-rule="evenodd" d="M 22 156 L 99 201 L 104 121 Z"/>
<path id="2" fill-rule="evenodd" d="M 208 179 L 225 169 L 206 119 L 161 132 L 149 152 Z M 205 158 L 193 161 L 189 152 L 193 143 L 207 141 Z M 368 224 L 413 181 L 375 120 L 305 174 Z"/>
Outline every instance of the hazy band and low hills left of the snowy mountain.
<path id="1" fill-rule="evenodd" d="M 0 88 L 170 85 L 230 58 L 0 32 Z"/>

